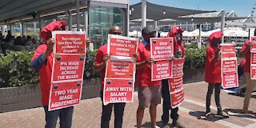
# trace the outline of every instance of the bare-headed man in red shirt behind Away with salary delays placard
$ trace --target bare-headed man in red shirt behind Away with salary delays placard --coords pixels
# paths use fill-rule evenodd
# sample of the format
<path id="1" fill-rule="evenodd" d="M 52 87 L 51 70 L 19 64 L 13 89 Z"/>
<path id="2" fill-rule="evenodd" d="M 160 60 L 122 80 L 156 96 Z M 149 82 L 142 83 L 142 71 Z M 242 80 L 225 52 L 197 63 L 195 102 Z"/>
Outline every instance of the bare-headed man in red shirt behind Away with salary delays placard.
<path id="1" fill-rule="evenodd" d="M 110 28 L 109 34 L 122 34 L 122 30 L 119 26 L 112 26 Z M 101 87 L 101 98 L 102 98 L 102 119 L 101 119 L 101 127 L 108 128 L 110 126 L 110 118 L 111 113 L 114 107 L 114 127 L 121 128 L 122 127 L 122 117 L 123 111 L 125 109 L 125 102 L 118 103 L 109 103 L 106 106 L 103 104 L 103 87 L 104 87 L 104 78 L 106 74 L 106 61 L 110 59 L 110 55 L 107 54 L 107 44 L 101 46 L 96 54 L 95 58 L 95 70 L 98 70 L 102 73 L 102 87 Z"/>

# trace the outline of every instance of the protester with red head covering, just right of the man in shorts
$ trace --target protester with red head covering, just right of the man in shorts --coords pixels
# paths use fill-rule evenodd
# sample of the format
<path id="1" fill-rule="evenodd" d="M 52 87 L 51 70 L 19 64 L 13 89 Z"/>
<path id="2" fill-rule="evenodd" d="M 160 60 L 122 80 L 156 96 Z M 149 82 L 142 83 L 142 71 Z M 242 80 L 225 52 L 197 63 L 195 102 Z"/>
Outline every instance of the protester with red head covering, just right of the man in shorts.
<path id="1" fill-rule="evenodd" d="M 167 37 L 174 38 L 174 58 L 183 58 L 185 56 L 184 46 L 182 44 L 182 28 L 173 26 L 172 30 L 168 33 Z M 169 116 L 173 119 L 172 126 L 183 128 L 181 122 L 178 122 L 178 106 L 172 108 L 170 106 L 170 90 L 168 79 L 162 80 L 162 122 L 163 127 L 168 126 Z M 170 114 L 169 114 L 170 110 Z"/>

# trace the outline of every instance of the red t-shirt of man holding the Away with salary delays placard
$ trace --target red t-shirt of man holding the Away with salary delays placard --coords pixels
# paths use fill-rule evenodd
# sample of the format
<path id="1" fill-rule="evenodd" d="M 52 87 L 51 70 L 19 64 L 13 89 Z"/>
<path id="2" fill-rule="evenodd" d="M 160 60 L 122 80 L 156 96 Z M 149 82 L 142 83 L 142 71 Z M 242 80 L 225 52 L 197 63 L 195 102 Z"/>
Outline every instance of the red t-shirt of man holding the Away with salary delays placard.
<path id="1" fill-rule="evenodd" d="M 107 45 L 106 44 L 101 46 L 97 50 L 97 54 L 96 54 L 96 58 L 95 58 L 95 64 L 102 63 L 103 62 L 103 57 L 104 57 L 105 54 L 107 54 Z M 103 90 L 106 67 L 101 72 L 102 72 L 102 87 L 101 87 L 101 90 Z"/>

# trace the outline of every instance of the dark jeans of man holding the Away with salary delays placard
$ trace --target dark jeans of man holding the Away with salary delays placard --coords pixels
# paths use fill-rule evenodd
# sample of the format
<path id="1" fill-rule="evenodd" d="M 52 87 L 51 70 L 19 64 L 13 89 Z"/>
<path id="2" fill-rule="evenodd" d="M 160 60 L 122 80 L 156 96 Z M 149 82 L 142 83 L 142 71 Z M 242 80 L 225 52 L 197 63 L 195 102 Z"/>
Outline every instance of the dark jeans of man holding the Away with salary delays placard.
<path id="1" fill-rule="evenodd" d="M 101 128 L 110 127 L 110 118 L 111 113 L 114 107 L 114 128 L 122 128 L 122 116 L 123 111 L 125 110 L 126 103 L 109 103 L 108 105 L 103 105 L 103 91 L 101 93 L 102 98 L 102 119 L 101 119 Z"/>

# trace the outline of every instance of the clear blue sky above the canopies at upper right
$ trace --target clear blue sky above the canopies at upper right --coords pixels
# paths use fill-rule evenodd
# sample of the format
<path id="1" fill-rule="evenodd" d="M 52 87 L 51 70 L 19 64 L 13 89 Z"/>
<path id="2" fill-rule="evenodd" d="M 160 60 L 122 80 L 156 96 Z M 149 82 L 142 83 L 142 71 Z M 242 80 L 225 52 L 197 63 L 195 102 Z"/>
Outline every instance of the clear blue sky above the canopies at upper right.
<path id="1" fill-rule="evenodd" d="M 130 5 L 141 2 L 141 0 L 130 0 Z M 158 5 L 173 6 L 192 10 L 234 10 L 239 17 L 248 16 L 256 0 L 147 0 Z M 254 10 L 256 16 L 256 9 Z"/>

